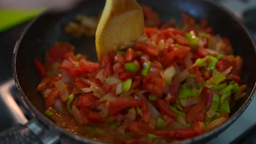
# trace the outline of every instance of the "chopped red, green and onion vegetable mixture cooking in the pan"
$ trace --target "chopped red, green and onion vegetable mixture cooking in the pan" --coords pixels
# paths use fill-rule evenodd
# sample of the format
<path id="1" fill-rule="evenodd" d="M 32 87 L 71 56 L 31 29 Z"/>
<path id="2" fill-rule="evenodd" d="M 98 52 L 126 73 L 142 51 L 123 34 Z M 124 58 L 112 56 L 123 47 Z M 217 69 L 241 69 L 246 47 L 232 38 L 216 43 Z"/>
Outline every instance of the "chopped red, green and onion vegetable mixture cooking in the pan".
<path id="1" fill-rule="evenodd" d="M 135 46 L 95 63 L 57 43 L 44 64 L 34 60 L 36 91 L 57 125 L 102 142 L 166 143 L 216 128 L 245 96 L 242 59 L 207 20 L 183 14 L 177 29 L 141 6 L 146 27 Z"/>

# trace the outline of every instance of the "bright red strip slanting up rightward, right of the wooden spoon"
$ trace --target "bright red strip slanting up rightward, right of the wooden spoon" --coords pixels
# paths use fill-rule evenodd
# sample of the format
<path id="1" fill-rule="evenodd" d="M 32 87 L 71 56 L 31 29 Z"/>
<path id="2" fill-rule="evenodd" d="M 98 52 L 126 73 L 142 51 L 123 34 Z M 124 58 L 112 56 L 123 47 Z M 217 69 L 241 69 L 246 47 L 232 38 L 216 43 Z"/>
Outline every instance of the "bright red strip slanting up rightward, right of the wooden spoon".
<path id="1" fill-rule="evenodd" d="M 168 52 L 164 57 L 161 57 L 159 61 L 168 67 L 176 58 L 182 59 L 189 53 L 190 48 L 187 46 L 180 46 L 179 49 Z"/>

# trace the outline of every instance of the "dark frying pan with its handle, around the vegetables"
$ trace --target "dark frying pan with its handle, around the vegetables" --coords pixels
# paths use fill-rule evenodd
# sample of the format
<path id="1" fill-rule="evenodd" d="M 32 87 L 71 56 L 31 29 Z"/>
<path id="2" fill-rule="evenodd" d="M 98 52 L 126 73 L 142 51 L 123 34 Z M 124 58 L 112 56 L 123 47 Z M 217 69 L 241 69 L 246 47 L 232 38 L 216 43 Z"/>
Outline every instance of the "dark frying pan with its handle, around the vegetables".
<path id="1" fill-rule="evenodd" d="M 213 139 L 228 128 L 245 111 L 253 98 L 256 80 L 256 68 L 253 63 L 256 62 L 256 55 L 252 37 L 235 16 L 210 0 L 141 0 L 138 2 L 147 4 L 156 10 L 163 21 L 173 18 L 177 22 L 181 22 L 182 12 L 188 13 L 197 19 L 207 19 L 215 33 L 230 39 L 235 55 L 240 55 L 243 58 L 244 65 L 241 77 L 242 82 L 247 85 L 247 95 L 232 107 L 229 120 L 208 133 L 179 142 L 203 143 Z M 67 41 L 75 45 L 76 52 L 86 53 L 90 60 L 96 61 L 95 38 L 74 38 L 63 31 L 63 26 L 72 21 L 77 14 L 97 16 L 101 13 L 103 7 L 103 0 L 88 0 L 81 3 L 79 7 L 63 13 L 53 14 L 46 11 L 28 25 L 15 46 L 13 70 L 14 79 L 20 92 L 19 99 L 27 106 L 28 111 L 33 113 L 34 118 L 25 126 L 18 125 L 18 128 L 12 128 L 1 133 L 0 138 L 2 138 L 2 141 L 7 142 L 5 138 L 14 139 L 14 135 L 19 135 L 19 139 L 15 139 L 16 142 L 30 140 L 30 142 L 54 143 L 62 139 L 68 143 L 98 143 L 57 127 L 54 122 L 44 115 L 45 108 L 42 95 L 35 92 L 40 79 L 34 68 L 33 59 L 38 58 L 43 61 L 44 53 L 51 45 L 56 41 Z M 26 135 L 30 135 L 30 137 Z M 36 136 L 39 136 L 40 141 L 36 140 Z"/>

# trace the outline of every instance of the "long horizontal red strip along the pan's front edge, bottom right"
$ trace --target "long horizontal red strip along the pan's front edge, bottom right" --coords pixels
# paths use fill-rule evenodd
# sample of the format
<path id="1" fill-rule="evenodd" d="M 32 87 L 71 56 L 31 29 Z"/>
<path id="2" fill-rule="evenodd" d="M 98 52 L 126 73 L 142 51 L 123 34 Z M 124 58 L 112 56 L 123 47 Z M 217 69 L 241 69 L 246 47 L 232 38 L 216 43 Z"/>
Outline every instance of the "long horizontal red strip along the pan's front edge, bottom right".
<path id="1" fill-rule="evenodd" d="M 168 138 L 186 139 L 197 135 L 193 128 L 176 129 L 176 130 L 158 130 L 155 135 L 165 136 Z"/>

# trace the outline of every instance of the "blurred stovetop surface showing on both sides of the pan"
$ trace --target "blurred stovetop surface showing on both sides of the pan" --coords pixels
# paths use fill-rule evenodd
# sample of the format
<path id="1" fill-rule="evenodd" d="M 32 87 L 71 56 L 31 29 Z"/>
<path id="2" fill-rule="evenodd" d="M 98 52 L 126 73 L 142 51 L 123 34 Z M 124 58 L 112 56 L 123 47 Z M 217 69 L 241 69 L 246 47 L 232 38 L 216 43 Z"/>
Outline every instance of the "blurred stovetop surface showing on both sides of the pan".
<path id="1" fill-rule="evenodd" d="M 219 0 L 219 2 L 243 20 L 256 36 L 256 0 Z M 0 65 L 3 68 L 0 75 L 0 130 L 18 123 L 25 124 L 32 117 L 32 113 L 27 112 L 17 100 L 19 93 L 12 79 L 11 70 L 13 48 L 25 26 L 26 22 L 0 33 L 0 47 L 3 50 L 0 53 Z M 228 129 L 207 143 L 256 143 L 255 110 L 256 98 Z"/>

